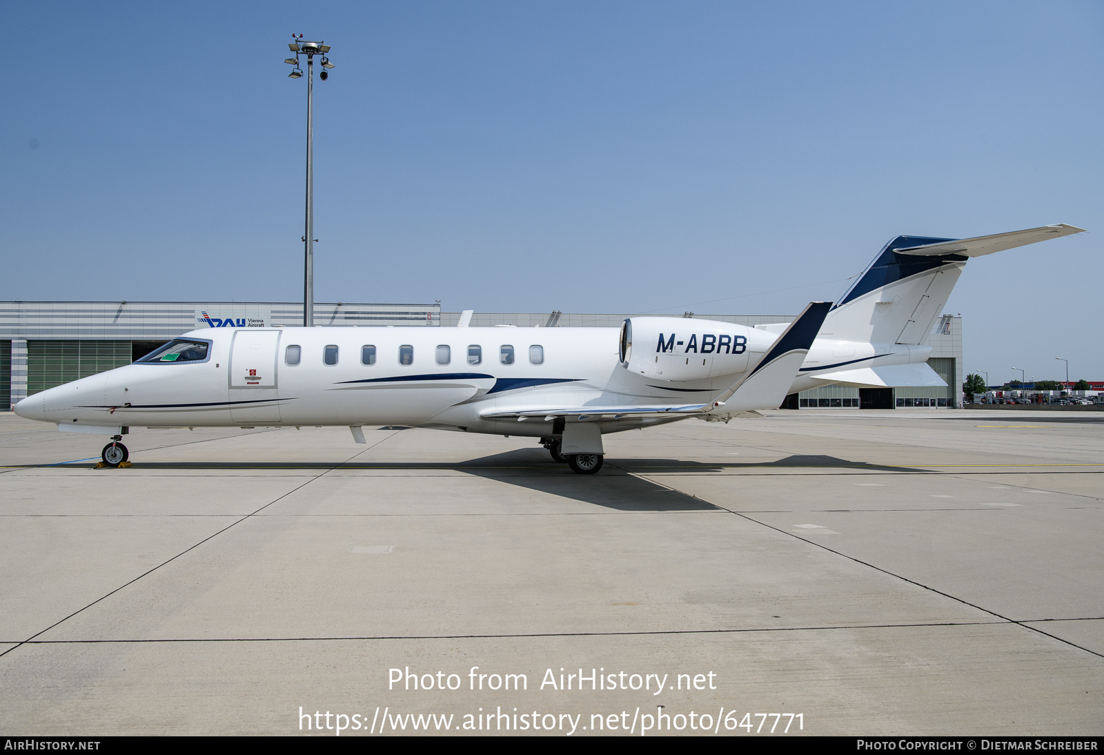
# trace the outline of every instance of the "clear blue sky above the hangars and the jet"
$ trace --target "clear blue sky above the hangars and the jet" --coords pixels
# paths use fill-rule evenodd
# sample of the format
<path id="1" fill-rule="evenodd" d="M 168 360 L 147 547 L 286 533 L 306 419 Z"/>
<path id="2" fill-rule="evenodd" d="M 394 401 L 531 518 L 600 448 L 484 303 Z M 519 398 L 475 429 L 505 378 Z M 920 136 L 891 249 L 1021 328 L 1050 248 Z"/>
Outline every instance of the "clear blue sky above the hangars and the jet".
<path id="1" fill-rule="evenodd" d="M 1104 379 L 1098 2 L 6 3 L 2 299 L 795 313 L 898 234 L 966 368 Z M 21 44 L 22 43 L 22 44 Z M 701 304 L 710 302 L 710 304 Z"/>

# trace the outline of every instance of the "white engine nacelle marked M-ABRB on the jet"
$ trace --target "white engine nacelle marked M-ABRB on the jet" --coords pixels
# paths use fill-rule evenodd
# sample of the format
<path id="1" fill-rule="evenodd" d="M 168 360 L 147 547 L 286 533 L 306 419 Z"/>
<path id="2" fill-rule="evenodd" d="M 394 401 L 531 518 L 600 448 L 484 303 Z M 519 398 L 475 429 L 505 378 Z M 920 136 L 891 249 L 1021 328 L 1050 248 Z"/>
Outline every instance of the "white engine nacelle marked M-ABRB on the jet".
<path id="1" fill-rule="evenodd" d="M 620 364 L 649 380 L 691 381 L 747 370 L 749 347 L 777 338 L 754 328 L 673 317 L 633 317 L 622 323 Z"/>

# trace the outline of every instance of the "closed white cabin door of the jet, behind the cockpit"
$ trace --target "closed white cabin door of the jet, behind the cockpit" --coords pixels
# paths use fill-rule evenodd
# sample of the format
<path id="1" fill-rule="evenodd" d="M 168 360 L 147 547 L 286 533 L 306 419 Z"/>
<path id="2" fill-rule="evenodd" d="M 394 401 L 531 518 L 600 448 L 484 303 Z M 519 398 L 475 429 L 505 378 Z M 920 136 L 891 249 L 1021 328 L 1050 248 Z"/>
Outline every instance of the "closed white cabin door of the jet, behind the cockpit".
<path id="1" fill-rule="evenodd" d="M 230 416 L 234 422 L 279 422 L 276 401 L 278 330 L 243 328 L 230 348 Z"/>

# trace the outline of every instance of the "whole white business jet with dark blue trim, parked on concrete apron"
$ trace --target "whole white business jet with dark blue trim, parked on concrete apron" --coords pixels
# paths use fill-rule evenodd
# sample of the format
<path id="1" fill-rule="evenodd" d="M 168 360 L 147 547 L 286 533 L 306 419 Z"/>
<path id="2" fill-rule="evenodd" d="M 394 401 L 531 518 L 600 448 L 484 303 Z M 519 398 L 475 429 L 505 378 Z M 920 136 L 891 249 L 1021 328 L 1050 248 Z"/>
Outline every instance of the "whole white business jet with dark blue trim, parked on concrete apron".
<path id="1" fill-rule="evenodd" d="M 577 474 L 602 436 L 688 417 L 728 422 L 789 393 L 946 385 L 925 363 L 966 262 L 1081 233 L 1047 225 L 952 240 L 898 236 L 835 306 L 792 323 L 631 317 L 617 328 L 226 328 L 184 333 L 127 366 L 28 396 L 22 417 L 103 433 L 127 460 L 130 427 L 346 425 L 540 438 Z"/>

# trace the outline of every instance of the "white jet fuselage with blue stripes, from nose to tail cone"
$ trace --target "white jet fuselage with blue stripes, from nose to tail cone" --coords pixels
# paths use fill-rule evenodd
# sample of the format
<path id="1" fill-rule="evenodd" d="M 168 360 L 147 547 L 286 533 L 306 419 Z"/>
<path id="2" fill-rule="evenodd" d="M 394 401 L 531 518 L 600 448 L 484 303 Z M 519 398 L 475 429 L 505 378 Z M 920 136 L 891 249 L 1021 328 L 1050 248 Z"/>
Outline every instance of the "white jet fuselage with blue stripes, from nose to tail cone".
<path id="1" fill-rule="evenodd" d="M 202 361 L 136 362 L 43 391 L 24 400 L 19 411 L 66 429 L 401 424 L 539 437 L 550 433 L 543 423 L 480 415 L 551 406 L 708 402 L 754 368 L 778 338 L 731 323 L 670 322 L 688 332 L 712 327 L 739 333 L 746 339 L 746 352 L 733 355 L 731 363 L 718 355 L 708 378 L 665 381 L 623 368 L 616 328 L 214 328 L 180 337 L 210 343 Z M 297 360 L 290 355 L 294 347 Z M 371 359 L 365 347 L 374 348 L 369 350 Z M 655 344 L 635 348 L 650 350 Z M 679 349 L 677 361 L 684 357 L 692 365 L 698 354 Z M 917 349 L 926 348 L 912 347 Z M 914 354 L 909 347 L 818 339 L 792 391 L 825 384 L 813 375 L 840 362 L 923 359 L 926 350 Z M 620 418 L 602 422 L 601 427 L 611 433 L 678 418 L 683 417 Z"/>

